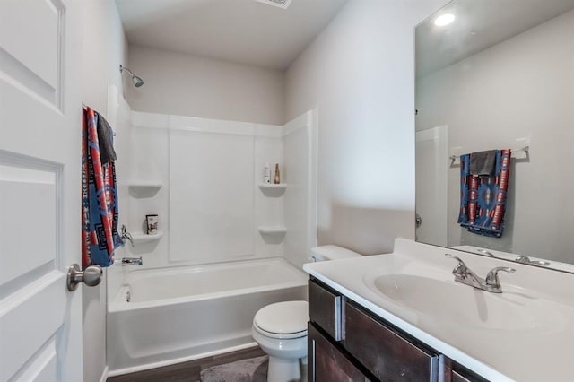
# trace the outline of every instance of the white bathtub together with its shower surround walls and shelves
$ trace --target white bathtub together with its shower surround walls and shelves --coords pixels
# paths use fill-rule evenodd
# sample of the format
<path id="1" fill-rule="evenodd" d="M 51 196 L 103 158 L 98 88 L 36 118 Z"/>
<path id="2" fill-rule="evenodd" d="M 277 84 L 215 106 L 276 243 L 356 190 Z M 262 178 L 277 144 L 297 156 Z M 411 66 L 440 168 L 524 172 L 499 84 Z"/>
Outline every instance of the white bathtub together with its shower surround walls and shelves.
<path id="1" fill-rule="evenodd" d="M 155 189 L 123 194 L 127 229 L 140 240 L 117 260 L 142 256 L 143 266 L 109 268 L 109 376 L 257 345 L 257 310 L 307 300 L 316 114 L 285 126 L 127 114 L 126 178 Z M 262 185 L 265 162 L 280 163 L 283 188 Z M 141 240 L 149 213 L 162 236 Z"/>

